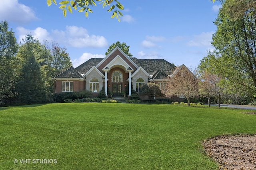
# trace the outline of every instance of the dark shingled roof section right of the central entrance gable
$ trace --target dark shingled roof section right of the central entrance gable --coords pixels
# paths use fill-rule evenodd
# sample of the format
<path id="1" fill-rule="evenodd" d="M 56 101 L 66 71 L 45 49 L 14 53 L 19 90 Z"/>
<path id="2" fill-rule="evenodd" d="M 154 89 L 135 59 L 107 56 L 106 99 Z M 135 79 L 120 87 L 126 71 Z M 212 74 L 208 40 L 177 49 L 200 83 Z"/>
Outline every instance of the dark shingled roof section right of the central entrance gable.
<path id="1" fill-rule="evenodd" d="M 164 74 L 171 75 L 176 66 L 164 59 L 137 59 L 130 58 L 137 66 L 141 66 L 148 74 L 154 75 L 158 70 Z"/>

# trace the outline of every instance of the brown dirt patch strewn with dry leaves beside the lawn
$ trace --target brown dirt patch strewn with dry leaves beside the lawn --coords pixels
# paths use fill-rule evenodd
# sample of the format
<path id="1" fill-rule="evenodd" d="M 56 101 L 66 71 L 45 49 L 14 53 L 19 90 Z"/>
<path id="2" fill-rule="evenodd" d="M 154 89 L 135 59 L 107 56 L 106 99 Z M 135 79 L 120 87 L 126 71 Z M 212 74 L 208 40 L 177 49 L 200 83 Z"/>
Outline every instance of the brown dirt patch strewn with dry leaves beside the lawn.
<path id="1" fill-rule="evenodd" d="M 256 135 L 220 136 L 202 143 L 224 170 L 256 170 Z"/>

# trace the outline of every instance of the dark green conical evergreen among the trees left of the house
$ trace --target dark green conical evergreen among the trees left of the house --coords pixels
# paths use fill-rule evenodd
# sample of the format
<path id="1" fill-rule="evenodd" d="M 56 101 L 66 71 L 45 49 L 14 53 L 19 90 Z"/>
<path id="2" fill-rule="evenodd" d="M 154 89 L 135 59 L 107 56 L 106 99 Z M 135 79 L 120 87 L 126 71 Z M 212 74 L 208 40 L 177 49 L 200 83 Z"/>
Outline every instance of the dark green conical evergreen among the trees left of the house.
<path id="1" fill-rule="evenodd" d="M 17 84 L 19 100 L 22 103 L 41 103 L 46 100 L 46 91 L 41 76 L 41 70 L 34 55 L 28 57 L 28 62 L 22 66 Z"/>

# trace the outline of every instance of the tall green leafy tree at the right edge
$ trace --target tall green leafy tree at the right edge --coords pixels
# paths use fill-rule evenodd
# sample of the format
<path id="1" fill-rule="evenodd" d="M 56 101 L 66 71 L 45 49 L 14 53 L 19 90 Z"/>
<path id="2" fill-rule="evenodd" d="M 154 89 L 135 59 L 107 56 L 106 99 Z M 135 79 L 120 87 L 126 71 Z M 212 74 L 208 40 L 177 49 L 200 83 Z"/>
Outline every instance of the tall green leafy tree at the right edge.
<path id="1" fill-rule="evenodd" d="M 215 74 L 225 78 L 239 90 L 256 92 L 256 11 L 250 8 L 244 15 L 232 20 L 226 11 L 233 0 L 225 0 L 215 21 L 214 53 L 208 62 Z M 245 3 L 245 2 L 244 2 Z"/>

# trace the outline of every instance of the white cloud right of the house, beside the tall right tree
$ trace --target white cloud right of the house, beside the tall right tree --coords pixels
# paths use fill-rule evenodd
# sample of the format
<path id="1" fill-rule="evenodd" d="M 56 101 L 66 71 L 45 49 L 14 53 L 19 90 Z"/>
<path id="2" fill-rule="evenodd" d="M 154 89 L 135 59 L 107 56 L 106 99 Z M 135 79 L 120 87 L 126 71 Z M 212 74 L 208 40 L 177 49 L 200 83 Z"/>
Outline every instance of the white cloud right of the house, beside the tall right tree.
<path id="1" fill-rule="evenodd" d="M 214 34 L 214 31 L 212 32 L 202 32 L 200 35 L 194 35 L 194 39 L 190 40 L 187 45 L 188 46 L 196 46 L 196 47 L 212 47 L 211 41 L 212 41 L 212 34 Z"/>

